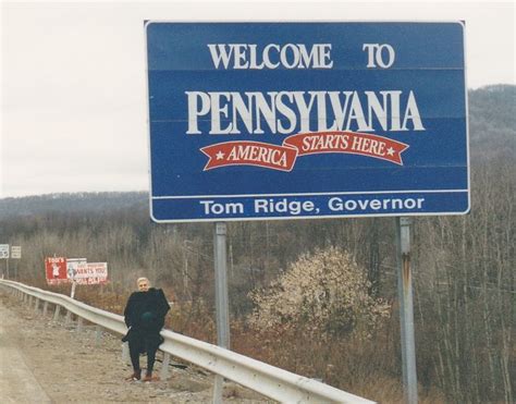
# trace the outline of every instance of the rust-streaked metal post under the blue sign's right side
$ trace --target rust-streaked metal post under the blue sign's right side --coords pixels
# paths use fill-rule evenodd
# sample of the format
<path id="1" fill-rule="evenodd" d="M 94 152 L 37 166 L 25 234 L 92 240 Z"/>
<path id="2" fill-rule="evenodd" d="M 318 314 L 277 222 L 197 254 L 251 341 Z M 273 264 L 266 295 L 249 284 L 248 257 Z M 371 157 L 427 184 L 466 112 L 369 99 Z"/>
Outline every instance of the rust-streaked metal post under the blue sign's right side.
<path id="1" fill-rule="evenodd" d="M 402 331 L 403 391 L 405 403 L 417 403 L 416 342 L 414 336 L 410 218 L 396 218 L 397 293 Z"/>

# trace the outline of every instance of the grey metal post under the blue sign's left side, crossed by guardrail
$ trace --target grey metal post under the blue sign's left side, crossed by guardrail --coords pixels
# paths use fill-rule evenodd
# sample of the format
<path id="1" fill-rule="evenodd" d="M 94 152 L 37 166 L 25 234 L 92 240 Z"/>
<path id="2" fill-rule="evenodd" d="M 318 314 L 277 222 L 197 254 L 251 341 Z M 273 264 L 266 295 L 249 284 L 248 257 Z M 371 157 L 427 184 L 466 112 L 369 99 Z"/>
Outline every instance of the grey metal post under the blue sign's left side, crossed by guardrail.
<path id="1" fill-rule="evenodd" d="M 226 224 L 217 222 L 214 225 L 214 271 L 216 271 L 216 310 L 217 310 L 217 344 L 230 348 L 230 309 L 228 299 L 228 254 Z M 213 384 L 213 403 L 222 403 L 222 376 L 216 375 Z"/>

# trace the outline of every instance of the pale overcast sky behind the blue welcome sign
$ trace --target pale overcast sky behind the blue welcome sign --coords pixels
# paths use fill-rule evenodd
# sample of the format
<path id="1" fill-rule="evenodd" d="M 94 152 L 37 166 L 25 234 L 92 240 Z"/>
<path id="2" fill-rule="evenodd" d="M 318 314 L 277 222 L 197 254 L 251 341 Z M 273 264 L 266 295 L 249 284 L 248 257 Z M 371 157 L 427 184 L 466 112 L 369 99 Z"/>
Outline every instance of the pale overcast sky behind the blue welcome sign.
<path id="1" fill-rule="evenodd" d="M 468 88 L 515 84 L 514 1 L 2 1 L 0 197 L 149 188 L 144 20 L 465 20 Z"/>

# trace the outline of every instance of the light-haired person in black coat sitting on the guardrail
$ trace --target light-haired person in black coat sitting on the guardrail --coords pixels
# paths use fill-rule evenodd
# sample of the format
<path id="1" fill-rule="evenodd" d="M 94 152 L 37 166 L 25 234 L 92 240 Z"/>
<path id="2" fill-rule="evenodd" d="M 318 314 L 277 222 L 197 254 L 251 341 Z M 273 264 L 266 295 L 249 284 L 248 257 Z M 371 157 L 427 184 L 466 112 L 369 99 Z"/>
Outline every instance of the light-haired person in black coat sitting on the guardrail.
<path id="1" fill-rule="evenodd" d="M 133 375 L 126 380 L 139 380 L 139 354 L 147 353 L 147 371 L 144 381 L 152 380 L 156 351 L 163 342 L 159 334 L 164 325 L 164 316 L 170 306 L 161 289 L 150 287 L 147 278 L 138 278 L 138 292 L 131 294 L 124 310 L 127 334 L 122 341 L 128 341 Z"/>

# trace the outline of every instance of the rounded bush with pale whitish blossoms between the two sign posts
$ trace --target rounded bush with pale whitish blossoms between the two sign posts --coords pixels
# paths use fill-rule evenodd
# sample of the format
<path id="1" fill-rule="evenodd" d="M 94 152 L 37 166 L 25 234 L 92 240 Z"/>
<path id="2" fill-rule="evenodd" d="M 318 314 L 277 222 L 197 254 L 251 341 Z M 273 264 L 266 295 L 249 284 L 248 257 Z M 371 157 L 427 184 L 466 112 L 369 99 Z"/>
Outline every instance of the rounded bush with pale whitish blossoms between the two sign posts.
<path id="1" fill-rule="evenodd" d="M 320 335 L 369 336 L 390 305 L 368 294 L 365 271 L 334 247 L 303 255 L 268 289 L 250 294 L 258 330 L 303 327 Z"/>

